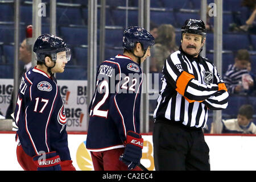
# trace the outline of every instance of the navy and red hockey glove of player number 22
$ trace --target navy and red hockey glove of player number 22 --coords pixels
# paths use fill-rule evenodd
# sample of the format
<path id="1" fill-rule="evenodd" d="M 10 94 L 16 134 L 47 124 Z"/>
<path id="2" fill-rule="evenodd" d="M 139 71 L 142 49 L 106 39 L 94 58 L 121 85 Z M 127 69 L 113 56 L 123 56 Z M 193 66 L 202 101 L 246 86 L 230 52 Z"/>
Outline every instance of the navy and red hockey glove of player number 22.
<path id="1" fill-rule="evenodd" d="M 143 138 L 140 134 L 128 131 L 125 141 L 125 151 L 119 157 L 123 163 L 131 170 L 135 168 L 141 161 L 143 148 Z"/>

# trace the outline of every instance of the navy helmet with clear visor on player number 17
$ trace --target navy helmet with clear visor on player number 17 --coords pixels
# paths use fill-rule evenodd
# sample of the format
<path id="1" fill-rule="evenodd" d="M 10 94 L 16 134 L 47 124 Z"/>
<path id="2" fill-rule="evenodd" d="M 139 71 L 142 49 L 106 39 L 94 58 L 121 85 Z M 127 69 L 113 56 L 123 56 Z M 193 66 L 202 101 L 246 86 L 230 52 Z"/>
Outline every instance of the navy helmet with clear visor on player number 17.
<path id="1" fill-rule="evenodd" d="M 34 44 L 33 51 L 36 60 L 44 63 L 46 55 L 51 55 L 52 61 L 56 61 L 58 52 L 66 52 L 67 61 L 71 59 L 71 50 L 63 39 L 49 34 L 43 34 L 38 37 Z"/>

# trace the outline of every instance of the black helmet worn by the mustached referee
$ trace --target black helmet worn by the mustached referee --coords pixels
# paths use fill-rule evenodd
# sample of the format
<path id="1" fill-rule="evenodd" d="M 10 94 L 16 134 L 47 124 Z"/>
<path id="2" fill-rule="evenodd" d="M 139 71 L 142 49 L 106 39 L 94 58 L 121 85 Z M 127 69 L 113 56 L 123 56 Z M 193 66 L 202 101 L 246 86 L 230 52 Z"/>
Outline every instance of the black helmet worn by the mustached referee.
<path id="1" fill-rule="evenodd" d="M 206 36 L 207 30 L 203 20 L 187 19 L 181 27 L 181 39 L 183 33 L 202 35 L 202 42 Z"/>

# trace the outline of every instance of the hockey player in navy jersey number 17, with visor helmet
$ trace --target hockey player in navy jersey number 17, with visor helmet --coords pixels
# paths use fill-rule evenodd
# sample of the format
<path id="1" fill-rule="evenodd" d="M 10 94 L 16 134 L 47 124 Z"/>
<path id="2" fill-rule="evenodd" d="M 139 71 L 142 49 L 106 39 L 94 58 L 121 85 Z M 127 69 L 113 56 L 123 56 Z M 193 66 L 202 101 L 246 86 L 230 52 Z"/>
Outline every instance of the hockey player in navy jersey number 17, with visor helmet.
<path id="1" fill-rule="evenodd" d="M 63 39 L 44 34 L 36 40 L 33 51 L 37 63 L 20 81 L 14 112 L 18 162 L 26 171 L 75 171 L 64 105 L 53 76 L 64 72 L 70 49 Z"/>

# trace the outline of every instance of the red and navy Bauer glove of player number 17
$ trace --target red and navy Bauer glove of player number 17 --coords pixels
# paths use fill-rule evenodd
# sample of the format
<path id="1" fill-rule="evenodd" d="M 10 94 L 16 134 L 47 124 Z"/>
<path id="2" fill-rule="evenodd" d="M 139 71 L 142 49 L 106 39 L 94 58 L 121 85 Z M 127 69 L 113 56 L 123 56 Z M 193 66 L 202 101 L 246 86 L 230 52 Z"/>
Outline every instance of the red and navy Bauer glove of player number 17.
<path id="1" fill-rule="evenodd" d="M 56 155 L 56 152 L 36 155 L 32 159 L 38 171 L 61 171 L 60 156 Z"/>

